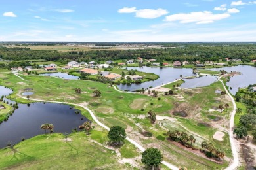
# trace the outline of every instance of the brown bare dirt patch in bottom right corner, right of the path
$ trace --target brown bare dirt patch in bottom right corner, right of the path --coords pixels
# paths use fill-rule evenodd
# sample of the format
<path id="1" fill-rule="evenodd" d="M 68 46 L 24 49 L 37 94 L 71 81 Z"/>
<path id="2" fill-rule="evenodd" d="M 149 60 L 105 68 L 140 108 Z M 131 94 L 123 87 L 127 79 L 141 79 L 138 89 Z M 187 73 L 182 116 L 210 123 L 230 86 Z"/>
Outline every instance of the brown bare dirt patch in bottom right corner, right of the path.
<path id="1" fill-rule="evenodd" d="M 251 152 L 251 148 L 245 144 L 240 144 L 244 161 L 246 163 L 246 169 L 253 170 L 255 169 L 255 158 Z"/>

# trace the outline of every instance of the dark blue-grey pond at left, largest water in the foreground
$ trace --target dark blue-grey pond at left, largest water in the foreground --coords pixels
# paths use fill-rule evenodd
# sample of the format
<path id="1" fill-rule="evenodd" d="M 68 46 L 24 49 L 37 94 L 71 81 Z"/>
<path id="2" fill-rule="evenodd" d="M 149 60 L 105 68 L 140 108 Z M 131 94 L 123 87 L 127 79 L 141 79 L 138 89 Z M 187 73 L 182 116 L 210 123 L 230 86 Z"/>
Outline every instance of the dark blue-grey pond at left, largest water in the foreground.
<path id="1" fill-rule="evenodd" d="M 9 93 L 12 91 L 0 86 L 0 95 Z M 7 146 L 9 142 L 19 143 L 23 137 L 29 139 L 44 134 L 45 131 L 40 127 L 45 123 L 53 124 L 56 133 L 70 133 L 72 129 L 78 129 L 79 125 L 87 121 L 85 116 L 81 113 L 75 114 L 75 111 L 79 110 L 58 103 L 18 104 L 18 109 L 12 116 L 0 124 L 0 148 Z"/>

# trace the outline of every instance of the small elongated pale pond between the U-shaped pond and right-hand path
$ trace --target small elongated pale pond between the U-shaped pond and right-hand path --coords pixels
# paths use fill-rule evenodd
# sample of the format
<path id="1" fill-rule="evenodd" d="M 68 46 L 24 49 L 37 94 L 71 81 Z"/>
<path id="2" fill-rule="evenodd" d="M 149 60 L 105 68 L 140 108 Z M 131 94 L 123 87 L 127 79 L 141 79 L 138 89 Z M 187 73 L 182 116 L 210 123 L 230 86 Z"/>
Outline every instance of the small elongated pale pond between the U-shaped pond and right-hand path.
<path id="1" fill-rule="evenodd" d="M 202 76 L 192 79 L 184 79 L 184 83 L 181 84 L 181 88 L 200 88 L 209 86 L 213 82 L 217 82 L 218 76 Z"/>

